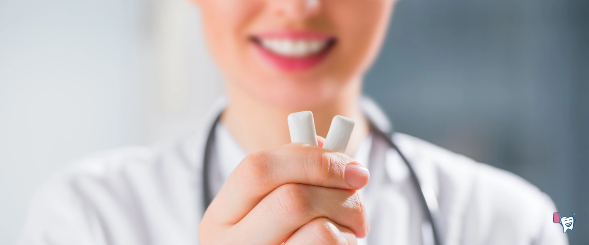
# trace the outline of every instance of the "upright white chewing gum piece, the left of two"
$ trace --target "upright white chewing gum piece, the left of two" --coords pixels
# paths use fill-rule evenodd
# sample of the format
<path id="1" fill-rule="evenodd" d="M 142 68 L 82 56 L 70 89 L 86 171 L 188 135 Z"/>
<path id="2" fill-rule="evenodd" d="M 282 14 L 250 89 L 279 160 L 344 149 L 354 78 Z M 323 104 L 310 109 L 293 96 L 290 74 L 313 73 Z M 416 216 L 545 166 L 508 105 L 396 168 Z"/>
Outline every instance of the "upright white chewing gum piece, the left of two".
<path id="1" fill-rule="evenodd" d="M 288 121 L 290 142 L 318 146 L 312 112 L 306 110 L 305 112 L 290 113 Z"/>

